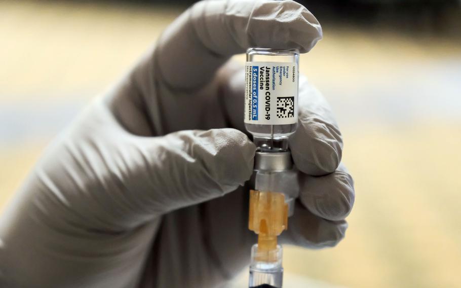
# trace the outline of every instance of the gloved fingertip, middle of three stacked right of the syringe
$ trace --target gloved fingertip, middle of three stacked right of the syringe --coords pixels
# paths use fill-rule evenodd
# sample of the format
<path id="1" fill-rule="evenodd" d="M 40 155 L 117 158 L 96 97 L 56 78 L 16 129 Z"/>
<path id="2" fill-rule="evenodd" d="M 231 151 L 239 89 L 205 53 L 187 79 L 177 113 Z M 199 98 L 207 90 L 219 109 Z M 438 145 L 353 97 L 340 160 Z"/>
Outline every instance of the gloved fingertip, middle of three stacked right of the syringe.
<path id="1" fill-rule="evenodd" d="M 299 175 L 300 202 L 318 217 L 345 219 L 354 205 L 354 180 L 343 164 L 325 176 Z"/>

